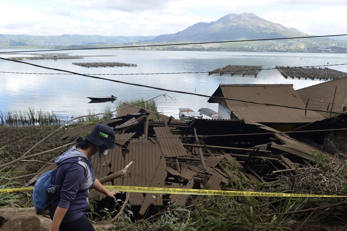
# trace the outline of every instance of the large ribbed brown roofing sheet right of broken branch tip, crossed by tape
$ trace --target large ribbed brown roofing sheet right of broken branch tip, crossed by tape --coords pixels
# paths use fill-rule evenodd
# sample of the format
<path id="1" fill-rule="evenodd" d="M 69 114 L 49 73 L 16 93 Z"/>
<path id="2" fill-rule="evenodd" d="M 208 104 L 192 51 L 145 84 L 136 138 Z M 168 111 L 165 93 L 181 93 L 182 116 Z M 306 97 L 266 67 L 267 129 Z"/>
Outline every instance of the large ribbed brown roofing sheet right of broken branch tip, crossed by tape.
<path id="1" fill-rule="evenodd" d="M 148 187 L 159 166 L 159 145 L 150 140 L 130 140 L 128 149 L 125 163 L 133 161 L 133 164 L 130 165 L 129 176 L 124 178 L 122 185 Z M 130 193 L 130 198 L 132 205 L 142 205 L 144 200 L 142 193 Z"/>

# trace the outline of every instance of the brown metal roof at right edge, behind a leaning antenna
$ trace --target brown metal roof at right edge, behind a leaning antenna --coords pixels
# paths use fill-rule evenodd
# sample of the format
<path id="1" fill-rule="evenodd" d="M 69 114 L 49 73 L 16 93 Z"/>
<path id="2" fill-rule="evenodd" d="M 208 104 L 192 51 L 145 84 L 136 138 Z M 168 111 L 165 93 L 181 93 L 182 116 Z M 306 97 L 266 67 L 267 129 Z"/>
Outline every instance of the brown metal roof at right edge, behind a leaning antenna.
<path id="1" fill-rule="evenodd" d="M 296 92 L 308 109 L 327 110 L 332 112 L 345 112 L 347 106 L 347 77 L 319 83 L 306 88 L 298 89 Z M 324 112 L 307 112 L 307 114 L 321 114 L 325 118 L 337 114 Z"/>

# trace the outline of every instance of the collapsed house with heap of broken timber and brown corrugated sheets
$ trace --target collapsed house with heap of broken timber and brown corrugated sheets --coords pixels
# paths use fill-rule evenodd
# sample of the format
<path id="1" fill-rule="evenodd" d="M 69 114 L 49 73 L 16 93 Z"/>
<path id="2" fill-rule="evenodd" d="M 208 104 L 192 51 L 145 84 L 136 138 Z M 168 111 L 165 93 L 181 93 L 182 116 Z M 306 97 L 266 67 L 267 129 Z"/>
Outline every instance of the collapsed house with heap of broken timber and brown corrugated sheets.
<path id="1" fill-rule="evenodd" d="M 243 120 L 195 119 L 190 123 L 123 103 L 117 117 L 101 121 L 115 131 L 116 148 L 101 159 L 92 157 L 96 178 L 122 170 L 128 173 L 105 185 L 184 189 L 236 190 L 225 165 L 256 182 L 274 182 L 278 170 L 293 170 L 293 163 L 312 166 L 316 147 L 299 142 L 271 127 Z M 96 124 L 69 129 L 62 139 L 73 141 Z M 328 152 L 319 150 L 323 155 Z M 252 190 L 252 189 L 244 189 Z M 188 195 L 130 192 L 132 211 L 151 215 Z M 154 210 L 158 211 L 158 210 Z M 135 214 L 136 215 L 136 214 Z"/>

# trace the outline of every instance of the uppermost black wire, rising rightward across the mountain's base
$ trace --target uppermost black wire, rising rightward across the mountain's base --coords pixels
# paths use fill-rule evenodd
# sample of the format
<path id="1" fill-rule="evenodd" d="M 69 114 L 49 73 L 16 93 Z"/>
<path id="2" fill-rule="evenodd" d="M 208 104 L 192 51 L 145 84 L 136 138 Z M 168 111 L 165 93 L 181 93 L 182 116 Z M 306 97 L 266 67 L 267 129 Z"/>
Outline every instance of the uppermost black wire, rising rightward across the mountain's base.
<path id="1" fill-rule="evenodd" d="M 232 41 L 219 41 L 219 42 L 173 43 L 173 44 L 140 45 L 140 46 L 123 46 L 123 47 L 74 48 L 74 49 L 32 50 L 32 51 L 10 51 L 10 52 L 5 52 L 5 51 L 4 51 L 4 52 L 0 52 L 0 53 L 42 52 L 42 51 L 62 51 L 62 50 L 95 50 L 95 49 L 136 48 L 136 47 L 162 47 L 162 46 L 194 45 L 194 44 L 209 44 L 209 43 L 252 42 L 252 41 L 283 40 L 283 39 L 322 38 L 322 37 L 345 36 L 345 35 L 347 35 L 347 34 L 318 35 L 318 36 L 303 36 L 303 37 L 289 37 L 289 38 L 275 38 L 275 39 L 232 40 Z"/>

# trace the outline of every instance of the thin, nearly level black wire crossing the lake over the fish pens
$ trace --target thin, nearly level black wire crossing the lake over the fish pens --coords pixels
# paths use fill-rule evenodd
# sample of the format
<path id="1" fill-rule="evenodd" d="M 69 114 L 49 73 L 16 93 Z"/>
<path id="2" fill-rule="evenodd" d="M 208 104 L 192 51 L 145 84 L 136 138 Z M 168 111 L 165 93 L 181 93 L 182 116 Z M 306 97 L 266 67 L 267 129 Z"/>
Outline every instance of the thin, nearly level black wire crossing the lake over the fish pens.
<path id="1" fill-rule="evenodd" d="M 341 66 L 341 65 L 347 65 L 347 63 L 344 64 L 331 64 L 329 66 Z M 308 67 L 325 67 L 327 64 L 324 65 L 316 65 L 316 66 L 301 66 L 301 67 L 281 67 L 281 69 L 291 69 L 291 68 L 308 68 Z M 278 69 L 275 68 L 261 68 L 261 69 L 249 69 L 247 71 L 262 71 L 262 70 L 275 70 Z M 244 72 L 245 70 L 236 70 L 234 72 Z M 165 74 L 203 74 L 203 73 L 210 73 L 209 72 L 170 72 L 170 73 L 134 73 L 134 74 L 81 74 L 81 75 L 165 75 Z M 37 75 L 71 75 L 67 73 L 26 73 L 26 72 L 1 72 L 0 73 L 10 73 L 10 74 L 37 74 Z"/>

